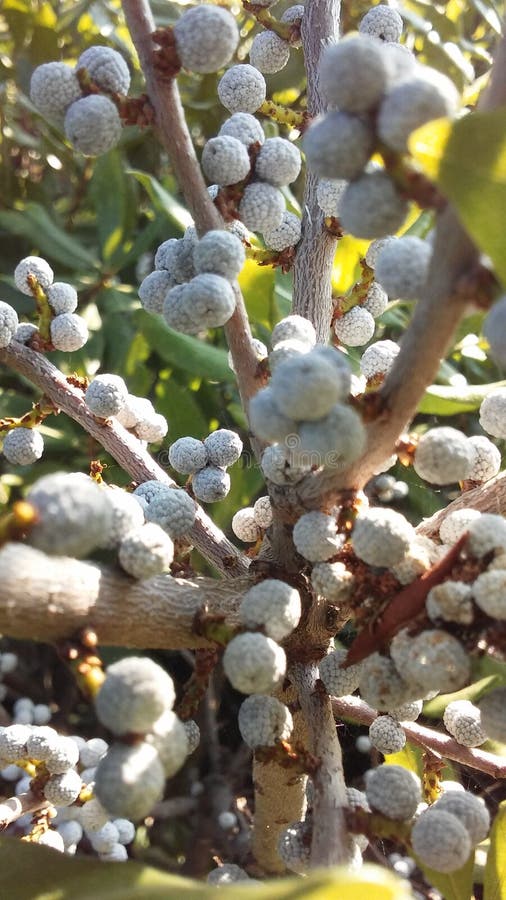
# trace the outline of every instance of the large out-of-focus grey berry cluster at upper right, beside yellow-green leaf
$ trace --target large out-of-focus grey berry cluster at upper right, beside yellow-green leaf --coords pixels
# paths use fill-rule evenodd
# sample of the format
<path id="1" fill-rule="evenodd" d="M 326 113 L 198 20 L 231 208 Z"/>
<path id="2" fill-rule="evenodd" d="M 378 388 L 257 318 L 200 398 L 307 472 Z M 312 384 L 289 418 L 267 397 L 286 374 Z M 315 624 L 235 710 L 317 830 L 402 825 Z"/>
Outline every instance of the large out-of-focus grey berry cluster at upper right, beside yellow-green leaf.
<path id="1" fill-rule="evenodd" d="M 349 182 L 337 187 L 336 198 L 343 228 L 356 237 L 393 234 L 408 212 L 388 172 L 368 167 L 375 148 L 406 153 L 412 131 L 457 112 L 452 82 L 417 63 L 398 43 L 401 32 L 399 13 L 380 5 L 366 14 L 358 35 L 326 49 L 319 77 L 330 111 L 304 137 L 310 169 L 323 179 Z M 331 201 L 325 206 L 332 208 Z"/>

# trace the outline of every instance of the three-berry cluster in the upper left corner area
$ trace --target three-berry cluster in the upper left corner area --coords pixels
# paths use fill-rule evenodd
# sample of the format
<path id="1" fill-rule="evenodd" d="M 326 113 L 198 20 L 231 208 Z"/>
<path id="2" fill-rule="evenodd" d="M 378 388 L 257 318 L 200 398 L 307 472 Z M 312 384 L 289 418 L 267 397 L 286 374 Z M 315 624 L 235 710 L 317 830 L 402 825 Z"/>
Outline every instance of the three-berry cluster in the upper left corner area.
<path id="1" fill-rule="evenodd" d="M 121 138 L 119 100 L 128 93 L 130 73 L 116 50 L 89 47 L 72 69 L 65 63 L 38 66 L 30 98 L 38 112 L 63 127 L 72 146 L 85 156 L 112 150 Z"/>

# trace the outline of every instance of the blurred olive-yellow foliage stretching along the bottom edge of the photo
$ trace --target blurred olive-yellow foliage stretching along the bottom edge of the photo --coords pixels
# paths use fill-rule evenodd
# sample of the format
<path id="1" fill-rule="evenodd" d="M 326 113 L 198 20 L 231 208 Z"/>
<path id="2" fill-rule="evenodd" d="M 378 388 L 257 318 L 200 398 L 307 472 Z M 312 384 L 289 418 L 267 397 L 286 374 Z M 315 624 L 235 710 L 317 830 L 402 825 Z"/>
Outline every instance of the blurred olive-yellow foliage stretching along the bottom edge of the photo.
<path id="1" fill-rule="evenodd" d="M 2 896 L 15 900 L 213 900 L 216 887 L 129 860 L 69 857 L 47 847 L 0 839 Z M 234 884 L 230 900 L 411 900 L 409 884 L 380 866 L 359 872 L 320 869 L 308 878 Z M 464 900 L 464 898 L 460 898 Z"/>

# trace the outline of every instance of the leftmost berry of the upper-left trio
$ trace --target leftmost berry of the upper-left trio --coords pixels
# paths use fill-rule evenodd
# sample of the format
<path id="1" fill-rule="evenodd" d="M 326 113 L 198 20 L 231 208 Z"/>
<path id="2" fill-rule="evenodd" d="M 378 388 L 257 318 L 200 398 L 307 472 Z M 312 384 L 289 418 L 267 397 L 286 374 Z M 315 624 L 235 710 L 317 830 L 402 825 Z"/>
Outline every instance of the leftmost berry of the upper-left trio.
<path id="1" fill-rule="evenodd" d="M 33 70 L 30 100 L 45 119 L 61 124 L 70 104 L 80 97 L 76 74 L 65 63 L 43 63 Z"/>

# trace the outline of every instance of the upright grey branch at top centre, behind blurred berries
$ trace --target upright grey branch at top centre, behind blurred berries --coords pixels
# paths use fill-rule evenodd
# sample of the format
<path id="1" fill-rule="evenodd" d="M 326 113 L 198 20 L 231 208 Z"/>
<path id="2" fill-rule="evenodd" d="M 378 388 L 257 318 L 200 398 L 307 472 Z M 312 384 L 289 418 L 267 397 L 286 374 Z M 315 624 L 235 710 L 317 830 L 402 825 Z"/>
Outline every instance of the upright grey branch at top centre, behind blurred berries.
<path id="1" fill-rule="evenodd" d="M 307 73 L 308 112 L 316 116 L 325 108 L 320 93 L 318 66 L 329 41 L 339 34 L 339 0 L 310 0 L 302 19 L 302 46 Z M 302 238 L 293 269 L 293 312 L 313 322 L 318 340 L 326 344 L 332 313 L 332 265 L 336 238 L 324 226 L 323 212 L 316 202 L 318 179 L 306 174 Z"/>

